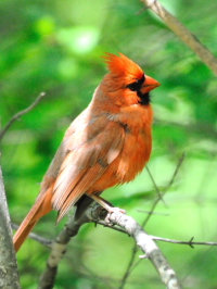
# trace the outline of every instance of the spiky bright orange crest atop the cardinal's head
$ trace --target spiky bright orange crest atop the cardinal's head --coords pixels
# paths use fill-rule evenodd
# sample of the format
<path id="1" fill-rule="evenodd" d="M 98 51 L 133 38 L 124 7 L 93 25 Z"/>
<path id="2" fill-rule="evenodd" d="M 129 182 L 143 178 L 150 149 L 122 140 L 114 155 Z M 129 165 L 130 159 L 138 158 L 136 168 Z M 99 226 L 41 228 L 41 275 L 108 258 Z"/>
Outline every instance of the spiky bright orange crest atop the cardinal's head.
<path id="1" fill-rule="evenodd" d="M 144 75 L 142 68 L 123 53 L 119 53 L 119 56 L 112 53 L 105 53 L 103 59 L 107 64 L 108 71 L 117 77 L 127 76 L 141 79 Z"/>

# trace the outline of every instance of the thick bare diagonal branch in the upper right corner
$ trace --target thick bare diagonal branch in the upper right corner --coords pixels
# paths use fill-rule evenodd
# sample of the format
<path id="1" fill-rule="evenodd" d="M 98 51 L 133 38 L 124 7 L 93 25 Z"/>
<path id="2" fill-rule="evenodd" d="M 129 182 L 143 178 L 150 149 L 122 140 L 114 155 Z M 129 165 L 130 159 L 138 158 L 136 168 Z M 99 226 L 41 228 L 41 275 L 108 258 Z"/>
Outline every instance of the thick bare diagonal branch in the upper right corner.
<path id="1" fill-rule="evenodd" d="M 158 15 L 166 25 L 217 75 L 217 59 L 187 27 L 155 0 L 140 0 Z"/>

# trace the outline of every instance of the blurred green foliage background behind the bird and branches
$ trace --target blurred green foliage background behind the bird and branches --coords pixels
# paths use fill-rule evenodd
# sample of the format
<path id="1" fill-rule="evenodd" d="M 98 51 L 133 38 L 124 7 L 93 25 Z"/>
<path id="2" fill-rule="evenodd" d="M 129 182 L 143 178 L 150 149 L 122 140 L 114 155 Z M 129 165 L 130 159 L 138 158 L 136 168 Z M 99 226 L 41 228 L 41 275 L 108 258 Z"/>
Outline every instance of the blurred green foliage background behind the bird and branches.
<path id="1" fill-rule="evenodd" d="M 214 54 L 217 53 L 217 2 L 161 1 Z M 1 163 L 12 221 L 21 223 L 69 123 L 90 102 L 105 74 L 100 58 L 123 52 L 162 86 L 152 92 L 155 111 L 149 168 L 164 189 L 183 152 L 178 176 L 145 229 L 164 238 L 217 241 L 217 79 L 214 74 L 140 1 L 0 1 L 1 127 L 46 91 L 34 111 L 3 138 Z M 131 184 L 103 197 L 127 210 L 140 224 L 156 199 L 144 172 Z M 163 215 L 162 215 L 163 213 Z M 35 233 L 53 238 L 56 213 Z M 215 247 L 158 243 L 184 288 L 217 288 Z M 55 288 L 118 288 L 133 240 L 89 224 L 72 240 L 59 268 Z M 138 256 L 141 252 L 138 252 Z M 36 288 L 49 250 L 27 240 L 17 254 L 22 288 Z M 137 256 L 137 261 L 139 257 Z M 126 289 L 165 288 L 151 263 L 132 271 Z"/>

